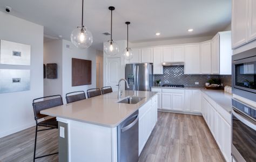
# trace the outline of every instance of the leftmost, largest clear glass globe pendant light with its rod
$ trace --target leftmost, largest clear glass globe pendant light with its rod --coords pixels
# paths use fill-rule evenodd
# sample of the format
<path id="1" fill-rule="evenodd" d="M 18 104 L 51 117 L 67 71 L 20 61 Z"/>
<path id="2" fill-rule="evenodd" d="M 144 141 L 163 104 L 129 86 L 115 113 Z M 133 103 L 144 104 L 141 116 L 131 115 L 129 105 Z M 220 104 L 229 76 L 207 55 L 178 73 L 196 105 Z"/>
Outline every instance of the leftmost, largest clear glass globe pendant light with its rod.
<path id="1" fill-rule="evenodd" d="M 71 32 L 71 42 L 79 49 L 89 48 L 92 44 L 92 34 L 84 26 L 84 0 L 82 0 L 82 25 L 77 26 L 75 30 Z"/>

